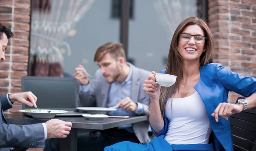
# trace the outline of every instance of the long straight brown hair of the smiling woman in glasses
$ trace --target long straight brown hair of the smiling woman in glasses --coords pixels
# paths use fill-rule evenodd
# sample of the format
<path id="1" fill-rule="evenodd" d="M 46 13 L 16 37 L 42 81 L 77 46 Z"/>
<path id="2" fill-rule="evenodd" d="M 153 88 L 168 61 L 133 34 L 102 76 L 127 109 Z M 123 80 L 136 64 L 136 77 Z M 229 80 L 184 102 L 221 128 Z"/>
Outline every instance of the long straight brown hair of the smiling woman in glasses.
<path id="1" fill-rule="evenodd" d="M 179 33 L 181 33 L 188 25 L 198 25 L 204 31 L 205 36 L 207 37 L 206 42 L 204 43 L 205 52 L 200 56 L 200 65 L 204 67 L 204 65 L 213 62 L 213 51 L 215 50 L 213 44 L 213 36 L 207 25 L 207 23 L 198 17 L 189 17 L 178 25 L 170 45 L 169 55 L 166 64 L 166 74 L 171 74 L 177 76 L 175 84 L 172 87 L 161 87 L 160 90 L 160 110 L 162 116 L 165 113 L 166 102 L 169 97 L 175 94 L 175 90 L 178 90 L 180 81 L 183 78 L 183 70 L 182 70 L 182 56 L 178 50 L 179 43 Z M 171 101 L 172 103 L 172 101 Z"/>

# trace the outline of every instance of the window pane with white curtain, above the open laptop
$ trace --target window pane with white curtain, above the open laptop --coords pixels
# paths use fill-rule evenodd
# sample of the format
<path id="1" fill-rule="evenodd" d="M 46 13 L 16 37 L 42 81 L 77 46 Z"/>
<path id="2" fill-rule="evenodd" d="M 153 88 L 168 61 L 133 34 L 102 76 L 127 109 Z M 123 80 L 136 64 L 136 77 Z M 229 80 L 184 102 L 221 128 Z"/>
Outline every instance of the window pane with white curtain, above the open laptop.
<path id="1" fill-rule="evenodd" d="M 32 0 L 29 75 L 73 76 L 83 65 L 92 76 L 96 49 L 119 42 L 112 0 Z"/>

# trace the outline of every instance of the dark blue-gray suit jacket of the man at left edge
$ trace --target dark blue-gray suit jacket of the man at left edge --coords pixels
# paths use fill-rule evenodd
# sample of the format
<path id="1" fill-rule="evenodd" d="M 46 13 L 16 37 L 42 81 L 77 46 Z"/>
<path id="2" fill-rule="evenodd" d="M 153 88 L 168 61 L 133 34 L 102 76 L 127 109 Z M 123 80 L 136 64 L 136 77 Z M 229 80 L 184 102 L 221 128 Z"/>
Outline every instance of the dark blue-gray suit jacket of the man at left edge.
<path id="1" fill-rule="evenodd" d="M 10 151 L 10 147 L 44 147 L 44 126 L 41 123 L 25 126 L 7 124 L 3 111 L 12 108 L 6 95 L 0 95 L 0 151 Z"/>

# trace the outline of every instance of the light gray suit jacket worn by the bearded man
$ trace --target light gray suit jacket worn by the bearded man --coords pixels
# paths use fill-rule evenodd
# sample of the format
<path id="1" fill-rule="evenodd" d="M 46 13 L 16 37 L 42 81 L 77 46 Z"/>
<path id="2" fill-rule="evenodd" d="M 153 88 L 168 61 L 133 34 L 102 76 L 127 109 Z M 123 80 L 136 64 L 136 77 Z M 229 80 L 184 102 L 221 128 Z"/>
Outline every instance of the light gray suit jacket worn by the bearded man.
<path id="1" fill-rule="evenodd" d="M 143 104 L 143 111 L 138 115 L 147 115 L 150 97 L 143 91 L 143 84 L 151 74 L 147 70 L 135 67 L 127 63 L 132 68 L 131 100 Z M 100 70 L 96 71 L 93 87 L 89 92 L 80 93 L 80 106 L 107 107 L 110 84 L 106 81 Z M 135 115 L 135 113 L 132 113 Z M 133 124 L 134 133 L 141 143 L 150 141 L 148 137 L 149 122 L 143 121 Z"/>

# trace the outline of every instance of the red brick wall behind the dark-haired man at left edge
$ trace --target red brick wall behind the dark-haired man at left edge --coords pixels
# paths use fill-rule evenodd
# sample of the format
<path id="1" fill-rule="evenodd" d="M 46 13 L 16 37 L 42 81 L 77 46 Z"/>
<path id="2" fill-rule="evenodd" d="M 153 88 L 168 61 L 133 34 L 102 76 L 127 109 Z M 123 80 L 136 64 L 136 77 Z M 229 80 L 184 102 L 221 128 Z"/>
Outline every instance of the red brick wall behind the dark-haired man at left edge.
<path id="1" fill-rule="evenodd" d="M 30 0 L 0 0 L 0 23 L 12 29 L 6 61 L 0 64 L 0 94 L 21 92 L 20 78 L 27 76 Z M 14 104 L 10 112 L 21 109 Z M 7 111 L 8 112 L 8 111 Z"/>

